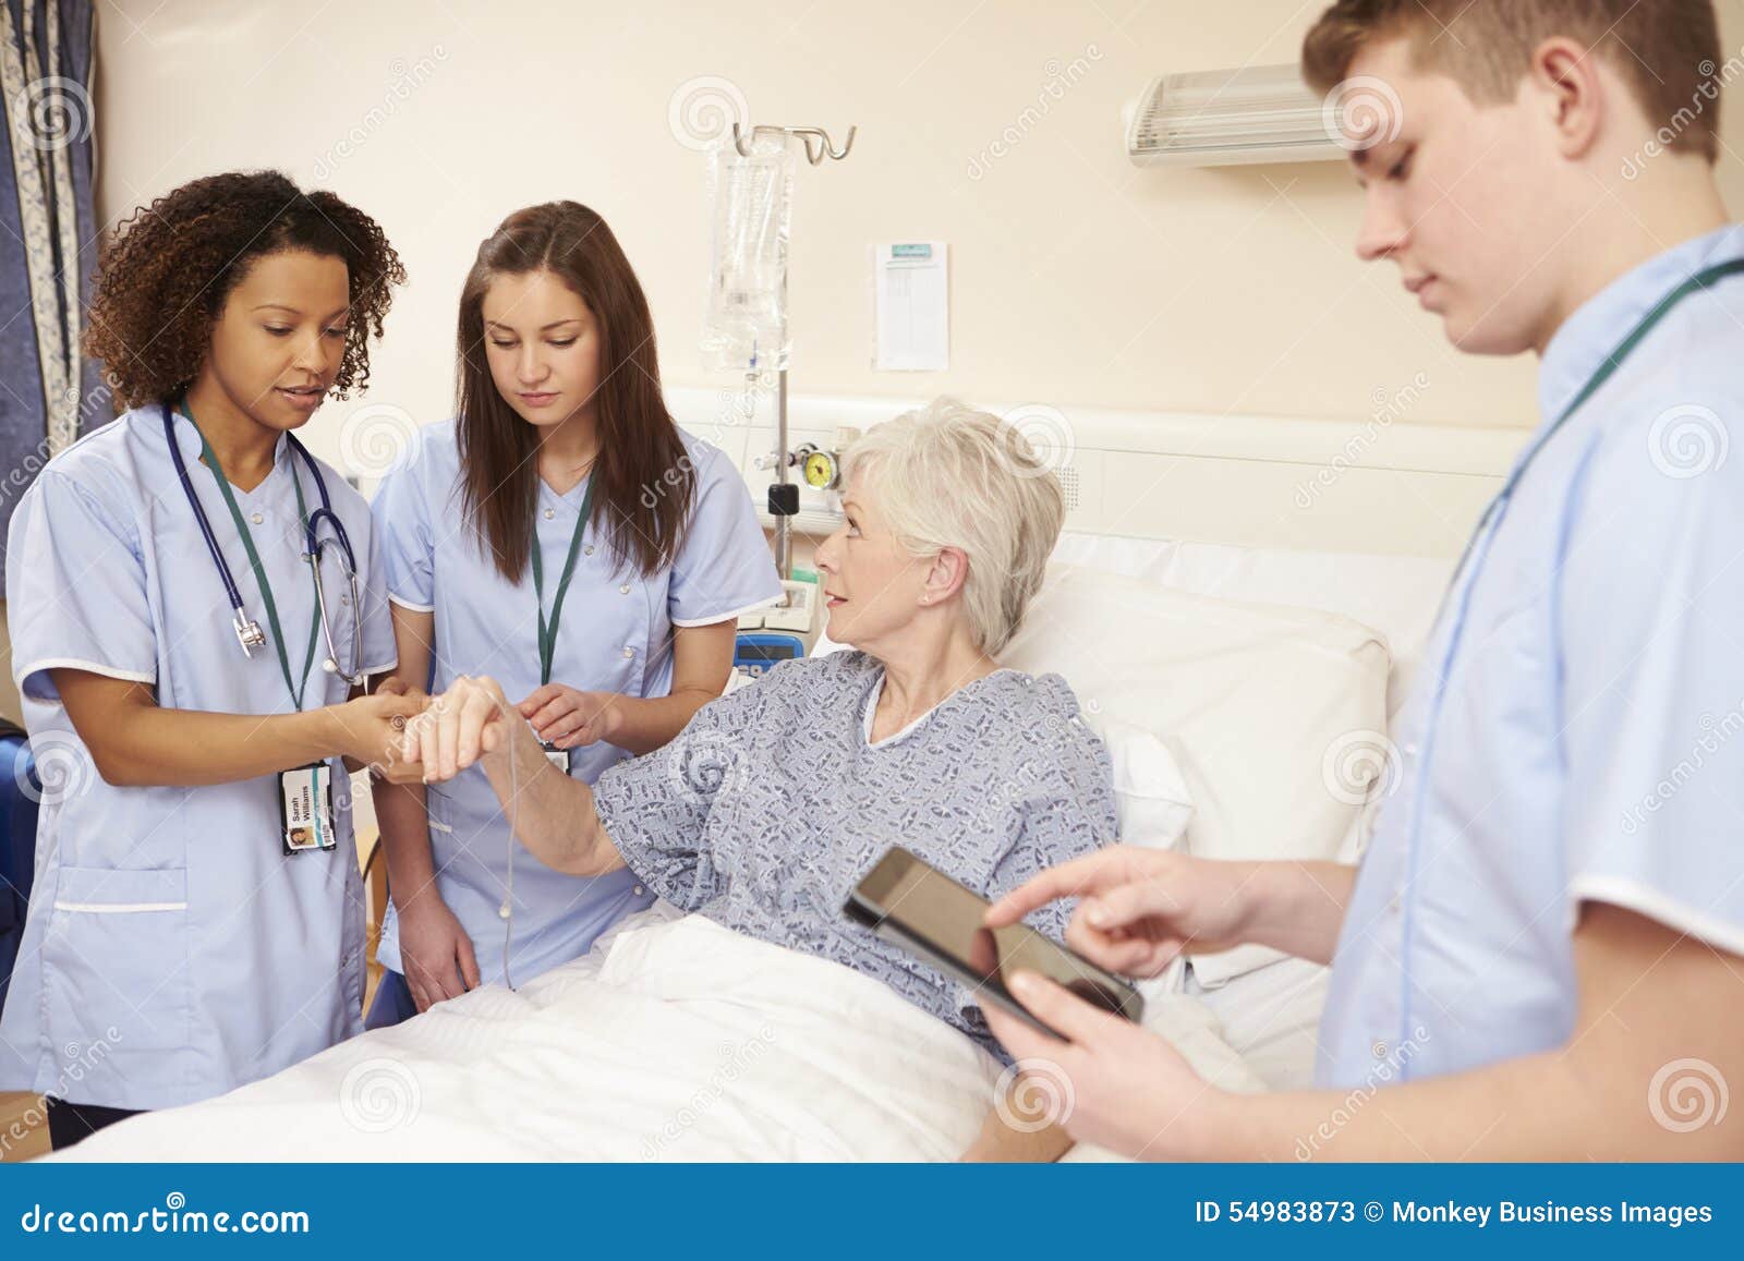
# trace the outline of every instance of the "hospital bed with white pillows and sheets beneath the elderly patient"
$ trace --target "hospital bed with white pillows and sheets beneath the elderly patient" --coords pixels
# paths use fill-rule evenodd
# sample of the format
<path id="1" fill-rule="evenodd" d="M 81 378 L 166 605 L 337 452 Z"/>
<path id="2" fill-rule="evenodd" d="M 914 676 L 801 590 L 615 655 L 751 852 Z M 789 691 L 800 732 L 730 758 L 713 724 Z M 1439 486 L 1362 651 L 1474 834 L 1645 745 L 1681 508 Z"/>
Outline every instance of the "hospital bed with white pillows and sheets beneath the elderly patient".
<path id="1" fill-rule="evenodd" d="M 715 396 L 691 403 L 689 413 L 675 403 L 680 422 L 753 478 L 762 431 L 712 429 L 696 412 Z M 900 410 L 886 408 L 795 401 L 820 440 Z M 1076 488 L 1076 520 L 1008 665 L 1073 684 L 1109 745 L 1128 841 L 1355 860 L 1397 781 L 1386 733 L 1441 588 L 1517 434 L 1362 422 L 1313 433 L 1318 422 L 1254 419 L 1217 433 L 1179 417 L 1146 427 L 1085 415 L 1074 413 L 1074 460 L 1097 469 L 1100 497 Z M 1132 434 L 1191 450 L 1113 448 Z M 1339 464 L 1352 434 L 1371 438 Z M 1135 453 L 1162 459 L 1162 476 L 1111 473 Z M 1338 476 L 1308 481 L 1313 511 L 1292 511 L 1325 467 Z M 1114 483 L 1151 508 L 1125 511 Z M 1207 494 L 1214 530 L 1162 535 Z M 1128 532 L 1081 528 L 1088 516 Z M 1348 546 L 1359 537 L 1373 546 Z M 998 1066 L 875 982 L 731 937 L 656 909 L 518 992 L 487 985 L 68 1155 L 783 1160 L 949 1158 L 966 1146 Z M 647 977 L 635 992 L 595 984 L 631 964 Z M 1148 1024 L 1216 1083 L 1311 1080 L 1324 968 L 1240 949 L 1184 961 L 1146 992 Z M 626 1045 L 642 1053 L 626 1057 Z M 1069 1158 L 1104 1156 L 1080 1146 Z"/>

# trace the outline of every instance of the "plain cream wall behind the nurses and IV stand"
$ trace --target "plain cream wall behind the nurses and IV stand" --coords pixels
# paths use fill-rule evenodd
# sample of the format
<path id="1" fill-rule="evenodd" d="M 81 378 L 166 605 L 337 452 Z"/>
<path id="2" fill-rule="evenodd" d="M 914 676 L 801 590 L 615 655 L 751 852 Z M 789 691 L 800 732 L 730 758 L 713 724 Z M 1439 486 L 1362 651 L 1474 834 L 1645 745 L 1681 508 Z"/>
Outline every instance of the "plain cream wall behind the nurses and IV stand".
<path id="1" fill-rule="evenodd" d="M 1318 7 L 122 0 L 99 17 L 99 209 L 260 166 L 356 201 L 412 274 L 366 401 L 431 420 L 480 237 L 574 197 L 624 241 L 666 378 L 727 382 L 696 349 L 703 157 L 668 122 L 682 84 L 719 77 L 753 120 L 860 126 L 846 162 L 800 171 L 795 391 L 1360 417 L 1423 373 L 1406 420 L 1529 424 L 1528 361 L 1451 352 L 1392 267 L 1353 262 L 1339 164 L 1128 164 L 1121 106 L 1149 75 L 1292 59 Z M 1744 21 L 1725 7 L 1730 51 Z M 971 178 L 1006 127 L 1017 143 Z M 877 373 L 867 246 L 917 237 L 952 248 L 952 366 Z M 317 419 L 317 446 L 356 405 Z"/>

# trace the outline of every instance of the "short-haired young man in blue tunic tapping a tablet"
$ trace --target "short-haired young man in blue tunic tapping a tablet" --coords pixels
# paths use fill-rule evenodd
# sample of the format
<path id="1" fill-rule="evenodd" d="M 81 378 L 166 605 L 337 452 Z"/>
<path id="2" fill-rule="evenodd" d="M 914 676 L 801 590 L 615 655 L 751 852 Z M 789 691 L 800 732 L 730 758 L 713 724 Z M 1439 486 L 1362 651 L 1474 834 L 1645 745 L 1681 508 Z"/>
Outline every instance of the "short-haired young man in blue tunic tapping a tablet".
<path id="1" fill-rule="evenodd" d="M 1364 127 L 1359 256 L 1460 349 L 1536 354 L 1540 422 L 1448 591 L 1360 869 L 1111 848 L 991 912 L 1081 896 L 1069 944 L 1128 973 L 1240 942 L 1332 964 L 1318 1088 L 1257 1097 L 1018 977 L 1064 1039 L 987 1019 L 1071 1078 L 1076 1137 L 1160 1160 L 1744 1158 L 1720 1123 L 1744 1090 L 1725 63 L 1707 0 L 1339 0 L 1308 33 L 1306 78 Z"/>

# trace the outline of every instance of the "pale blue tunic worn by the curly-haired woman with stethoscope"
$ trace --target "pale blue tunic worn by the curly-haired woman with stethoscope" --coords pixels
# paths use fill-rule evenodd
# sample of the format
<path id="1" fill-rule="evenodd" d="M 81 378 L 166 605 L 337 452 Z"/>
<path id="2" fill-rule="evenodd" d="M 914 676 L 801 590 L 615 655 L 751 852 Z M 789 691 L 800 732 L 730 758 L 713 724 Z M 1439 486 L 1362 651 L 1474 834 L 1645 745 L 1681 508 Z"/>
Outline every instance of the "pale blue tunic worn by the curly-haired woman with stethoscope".
<path id="1" fill-rule="evenodd" d="M 181 455 L 242 593 L 272 635 L 260 586 L 201 441 L 176 417 Z M 272 583 L 291 671 L 314 590 L 291 476 L 314 478 L 281 440 L 255 490 L 235 490 Z M 358 549 L 363 666 L 394 666 L 370 511 L 324 467 Z M 338 565 L 323 565 L 342 659 L 352 647 Z M 0 1017 L 0 1090 L 78 1104 L 169 1108 L 277 1073 L 361 1031 L 364 905 L 349 781 L 333 759 L 338 844 L 286 856 L 277 776 L 202 788 L 117 788 L 96 773 L 49 670 L 153 685 L 178 710 L 290 713 L 277 652 L 244 658 L 230 602 L 171 462 L 159 408 L 120 417 L 49 460 L 7 537 L 12 677 L 44 780 L 37 870 L 17 970 Z M 344 616 L 338 616 L 344 614 Z M 309 671 L 305 708 L 347 684 Z"/>

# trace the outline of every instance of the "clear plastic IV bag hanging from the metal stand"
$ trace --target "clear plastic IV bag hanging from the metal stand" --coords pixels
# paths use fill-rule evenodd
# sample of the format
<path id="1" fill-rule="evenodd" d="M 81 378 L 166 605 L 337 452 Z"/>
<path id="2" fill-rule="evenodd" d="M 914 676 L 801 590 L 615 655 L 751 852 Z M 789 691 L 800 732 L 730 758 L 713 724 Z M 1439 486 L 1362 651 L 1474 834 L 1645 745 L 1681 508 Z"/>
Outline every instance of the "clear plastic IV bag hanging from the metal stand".
<path id="1" fill-rule="evenodd" d="M 713 256 L 703 354 L 715 368 L 787 368 L 787 237 L 794 153 L 787 136 L 753 136 L 750 157 L 731 138 L 708 155 Z"/>

